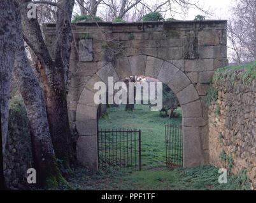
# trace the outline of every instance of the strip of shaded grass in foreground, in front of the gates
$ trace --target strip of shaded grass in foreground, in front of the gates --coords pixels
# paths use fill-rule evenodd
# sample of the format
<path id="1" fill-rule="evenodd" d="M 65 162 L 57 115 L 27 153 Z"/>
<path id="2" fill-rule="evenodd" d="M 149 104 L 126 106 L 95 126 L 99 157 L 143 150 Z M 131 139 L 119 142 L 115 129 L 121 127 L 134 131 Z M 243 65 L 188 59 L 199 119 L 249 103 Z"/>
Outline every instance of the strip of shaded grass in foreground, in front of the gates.
<path id="1" fill-rule="evenodd" d="M 248 190 L 243 174 L 229 176 L 227 184 L 218 183 L 213 166 L 192 169 L 155 167 L 143 171 L 99 171 L 75 169 L 68 181 L 75 190 Z"/>

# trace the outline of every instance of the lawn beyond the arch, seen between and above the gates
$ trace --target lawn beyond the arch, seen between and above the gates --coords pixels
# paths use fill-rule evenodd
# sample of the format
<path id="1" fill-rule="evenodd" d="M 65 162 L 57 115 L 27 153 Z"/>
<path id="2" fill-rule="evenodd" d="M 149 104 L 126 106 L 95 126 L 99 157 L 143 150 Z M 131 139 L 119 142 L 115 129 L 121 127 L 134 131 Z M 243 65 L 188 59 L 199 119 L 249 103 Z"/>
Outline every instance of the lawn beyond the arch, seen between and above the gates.
<path id="1" fill-rule="evenodd" d="M 108 117 L 99 120 L 99 129 L 141 129 L 141 159 L 145 168 L 164 166 L 166 143 L 164 124 L 181 124 L 181 117 L 162 118 L 148 105 L 135 105 L 133 112 L 125 112 L 125 105 L 108 108 Z M 181 114 L 181 110 L 177 110 Z"/>

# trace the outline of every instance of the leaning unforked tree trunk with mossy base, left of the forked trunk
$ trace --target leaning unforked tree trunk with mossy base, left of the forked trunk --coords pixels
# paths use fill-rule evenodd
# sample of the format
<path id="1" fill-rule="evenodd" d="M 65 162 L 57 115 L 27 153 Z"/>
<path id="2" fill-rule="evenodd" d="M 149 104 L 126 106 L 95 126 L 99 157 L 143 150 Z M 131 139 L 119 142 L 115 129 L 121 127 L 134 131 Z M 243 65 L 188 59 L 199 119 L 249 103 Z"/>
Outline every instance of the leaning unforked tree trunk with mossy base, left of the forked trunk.
<path id="1" fill-rule="evenodd" d="M 17 14 L 17 16 L 19 16 Z M 19 19 L 20 20 L 20 19 Z M 45 100 L 39 82 L 27 61 L 22 38 L 21 21 L 17 24 L 17 51 L 15 53 L 14 77 L 24 99 L 31 131 L 32 154 L 39 185 L 58 187 L 66 183 L 62 178 L 55 158 L 47 121 Z"/>

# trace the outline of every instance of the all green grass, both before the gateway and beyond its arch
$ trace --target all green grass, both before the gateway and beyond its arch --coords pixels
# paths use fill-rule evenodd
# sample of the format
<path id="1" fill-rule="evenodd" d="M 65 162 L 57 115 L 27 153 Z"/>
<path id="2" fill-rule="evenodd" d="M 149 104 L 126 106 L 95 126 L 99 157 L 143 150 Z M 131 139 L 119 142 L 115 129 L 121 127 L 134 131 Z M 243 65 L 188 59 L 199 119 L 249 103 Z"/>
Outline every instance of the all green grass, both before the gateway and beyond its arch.
<path id="1" fill-rule="evenodd" d="M 165 166 L 164 124 L 181 124 L 181 117 L 167 119 L 151 112 L 146 105 L 136 105 L 134 112 L 124 106 L 108 108 L 99 121 L 99 129 L 141 129 L 142 171 L 123 169 L 91 173 L 77 168 L 67 180 L 77 190 L 241 190 L 247 186 L 244 176 L 218 183 L 218 169 L 213 166 L 193 169 L 167 169 Z M 181 110 L 178 109 L 178 114 Z"/>

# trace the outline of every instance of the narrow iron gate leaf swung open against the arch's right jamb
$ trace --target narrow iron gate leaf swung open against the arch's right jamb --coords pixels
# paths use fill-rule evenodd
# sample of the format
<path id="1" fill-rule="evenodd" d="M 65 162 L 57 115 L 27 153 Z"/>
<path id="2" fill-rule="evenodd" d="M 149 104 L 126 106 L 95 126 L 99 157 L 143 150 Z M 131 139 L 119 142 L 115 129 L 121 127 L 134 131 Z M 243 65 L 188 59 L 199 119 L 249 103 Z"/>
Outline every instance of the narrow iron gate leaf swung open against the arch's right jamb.
<path id="1" fill-rule="evenodd" d="M 183 167 L 182 126 L 166 124 L 166 166 Z"/>

